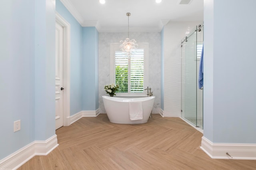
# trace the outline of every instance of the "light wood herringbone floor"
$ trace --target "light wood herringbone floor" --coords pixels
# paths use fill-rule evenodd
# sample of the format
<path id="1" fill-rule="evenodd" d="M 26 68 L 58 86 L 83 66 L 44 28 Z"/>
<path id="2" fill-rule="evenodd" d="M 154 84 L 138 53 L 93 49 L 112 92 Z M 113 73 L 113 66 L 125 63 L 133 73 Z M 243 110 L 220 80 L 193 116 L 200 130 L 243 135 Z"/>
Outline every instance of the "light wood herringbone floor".
<path id="1" fill-rule="evenodd" d="M 19 170 L 255 170 L 255 160 L 211 159 L 202 133 L 180 118 L 153 115 L 148 123 L 110 123 L 106 114 L 56 130 L 58 144 Z"/>

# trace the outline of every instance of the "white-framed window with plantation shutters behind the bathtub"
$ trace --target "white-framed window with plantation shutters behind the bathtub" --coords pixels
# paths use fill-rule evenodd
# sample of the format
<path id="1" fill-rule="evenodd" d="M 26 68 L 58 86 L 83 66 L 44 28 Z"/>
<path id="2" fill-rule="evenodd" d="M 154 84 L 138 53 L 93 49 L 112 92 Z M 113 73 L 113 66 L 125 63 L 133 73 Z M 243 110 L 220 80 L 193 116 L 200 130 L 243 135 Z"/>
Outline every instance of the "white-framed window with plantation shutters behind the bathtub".
<path id="1" fill-rule="evenodd" d="M 118 84 L 117 96 L 145 96 L 148 86 L 148 43 L 138 43 L 129 59 L 119 43 L 110 45 L 110 83 Z"/>

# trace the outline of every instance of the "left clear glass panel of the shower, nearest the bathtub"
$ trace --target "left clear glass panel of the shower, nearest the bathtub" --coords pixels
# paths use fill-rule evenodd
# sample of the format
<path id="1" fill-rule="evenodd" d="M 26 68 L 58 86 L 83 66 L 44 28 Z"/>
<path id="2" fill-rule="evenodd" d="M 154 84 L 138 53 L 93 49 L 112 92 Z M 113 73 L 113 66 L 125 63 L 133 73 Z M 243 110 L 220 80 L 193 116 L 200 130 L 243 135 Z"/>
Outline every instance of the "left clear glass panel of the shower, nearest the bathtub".
<path id="1" fill-rule="evenodd" d="M 193 30 L 196 30 L 194 28 Z M 182 43 L 182 117 L 197 126 L 197 35 L 193 31 Z"/>

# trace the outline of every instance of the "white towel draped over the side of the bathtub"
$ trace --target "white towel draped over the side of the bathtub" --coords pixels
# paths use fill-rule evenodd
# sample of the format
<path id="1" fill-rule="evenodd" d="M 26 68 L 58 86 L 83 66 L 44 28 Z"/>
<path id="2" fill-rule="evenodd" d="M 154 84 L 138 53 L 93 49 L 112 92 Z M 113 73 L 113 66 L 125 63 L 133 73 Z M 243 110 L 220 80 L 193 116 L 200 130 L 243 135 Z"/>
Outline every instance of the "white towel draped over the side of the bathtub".
<path id="1" fill-rule="evenodd" d="M 129 114 L 130 114 L 131 121 L 143 119 L 142 102 L 141 101 L 130 101 L 129 102 Z"/>

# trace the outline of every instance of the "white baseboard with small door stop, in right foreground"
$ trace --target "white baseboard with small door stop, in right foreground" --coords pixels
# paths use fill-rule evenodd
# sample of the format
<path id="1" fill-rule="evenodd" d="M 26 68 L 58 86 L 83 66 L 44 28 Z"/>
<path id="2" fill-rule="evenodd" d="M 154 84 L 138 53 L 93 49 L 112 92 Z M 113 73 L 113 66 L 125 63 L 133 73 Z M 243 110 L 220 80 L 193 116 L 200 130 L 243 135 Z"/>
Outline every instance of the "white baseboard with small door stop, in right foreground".
<path id="1" fill-rule="evenodd" d="M 256 160 L 256 144 L 212 143 L 203 136 L 200 148 L 213 159 Z"/>

